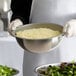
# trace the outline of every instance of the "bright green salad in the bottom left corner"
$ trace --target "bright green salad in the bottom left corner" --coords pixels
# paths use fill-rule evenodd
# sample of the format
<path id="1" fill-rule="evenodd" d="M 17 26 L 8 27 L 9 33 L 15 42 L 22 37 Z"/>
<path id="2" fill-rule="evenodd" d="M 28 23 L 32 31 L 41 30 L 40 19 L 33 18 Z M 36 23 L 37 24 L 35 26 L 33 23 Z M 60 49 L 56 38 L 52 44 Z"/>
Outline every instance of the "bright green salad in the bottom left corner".
<path id="1" fill-rule="evenodd" d="M 13 68 L 0 65 L 0 76 L 13 76 L 17 73 L 18 73 L 18 71 Z"/>

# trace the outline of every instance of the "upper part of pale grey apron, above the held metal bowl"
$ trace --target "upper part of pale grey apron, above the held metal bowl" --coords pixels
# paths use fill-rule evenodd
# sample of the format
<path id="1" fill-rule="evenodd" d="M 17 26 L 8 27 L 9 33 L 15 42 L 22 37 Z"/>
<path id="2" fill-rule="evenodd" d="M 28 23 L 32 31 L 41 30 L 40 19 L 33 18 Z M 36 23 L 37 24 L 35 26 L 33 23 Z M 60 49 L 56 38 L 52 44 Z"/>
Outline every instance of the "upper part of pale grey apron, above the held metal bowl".
<path id="1" fill-rule="evenodd" d="M 30 20 L 64 25 L 75 15 L 76 0 L 33 0 Z"/>

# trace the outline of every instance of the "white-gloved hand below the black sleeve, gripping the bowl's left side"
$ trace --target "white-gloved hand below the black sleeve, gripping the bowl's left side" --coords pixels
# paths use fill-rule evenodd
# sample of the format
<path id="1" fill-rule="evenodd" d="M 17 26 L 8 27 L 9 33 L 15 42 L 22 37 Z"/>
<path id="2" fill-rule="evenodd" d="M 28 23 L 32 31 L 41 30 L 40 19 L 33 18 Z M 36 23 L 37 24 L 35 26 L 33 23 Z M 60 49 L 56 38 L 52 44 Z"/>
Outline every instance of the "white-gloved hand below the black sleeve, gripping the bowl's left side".
<path id="1" fill-rule="evenodd" d="M 17 27 L 20 27 L 22 25 L 23 25 L 23 23 L 20 19 L 15 19 L 8 26 L 9 33 L 12 35 L 12 31 L 15 30 Z"/>

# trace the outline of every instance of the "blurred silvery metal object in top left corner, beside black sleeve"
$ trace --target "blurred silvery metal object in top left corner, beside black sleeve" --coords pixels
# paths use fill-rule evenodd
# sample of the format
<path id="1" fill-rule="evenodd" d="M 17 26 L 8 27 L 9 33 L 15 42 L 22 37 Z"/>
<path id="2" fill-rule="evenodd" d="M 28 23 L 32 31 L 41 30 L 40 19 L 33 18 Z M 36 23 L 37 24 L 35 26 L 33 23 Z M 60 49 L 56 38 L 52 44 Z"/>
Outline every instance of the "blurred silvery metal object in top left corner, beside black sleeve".
<path id="1" fill-rule="evenodd" d="M 7 31 L 7 26 L 11 17 L 11 0 L 0 0 L 0 31 Z"/>

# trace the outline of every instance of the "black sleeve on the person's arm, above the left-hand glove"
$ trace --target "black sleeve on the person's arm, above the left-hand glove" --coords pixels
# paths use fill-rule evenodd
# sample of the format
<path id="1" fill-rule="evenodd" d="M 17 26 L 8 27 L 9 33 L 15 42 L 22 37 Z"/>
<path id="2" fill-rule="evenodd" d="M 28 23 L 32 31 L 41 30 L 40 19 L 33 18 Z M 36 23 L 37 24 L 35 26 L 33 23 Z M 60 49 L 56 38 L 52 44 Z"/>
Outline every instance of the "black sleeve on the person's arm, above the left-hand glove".
<path id="1" fill-rule="evenodd" d="M 11 21 L 20 19 L 23 24 L 29 23 L 32 0 L 12 0 L 11 10 L 13 15 Z"/>

